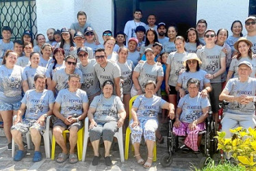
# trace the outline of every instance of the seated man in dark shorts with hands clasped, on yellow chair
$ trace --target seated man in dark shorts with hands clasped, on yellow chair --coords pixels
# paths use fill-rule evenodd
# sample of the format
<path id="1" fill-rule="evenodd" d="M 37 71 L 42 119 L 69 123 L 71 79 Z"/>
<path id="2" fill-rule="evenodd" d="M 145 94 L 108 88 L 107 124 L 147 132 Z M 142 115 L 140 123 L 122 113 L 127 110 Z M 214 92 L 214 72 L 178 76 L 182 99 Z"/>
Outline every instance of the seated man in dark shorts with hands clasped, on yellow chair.
<path id="1" fill-rule="evenodd" d="M 88 97 L 86 92 L 78 89 L 80 76 L 71 74 L 68 77 L 68 88 L 60 90 L 55 100 L 53 114 L 57 117 L 53 124 L 53 135 L 57 144 L 62 148 L 62 153 L 57 157 L 57 162 L 62 163 L 68 158 L 68 149 L 64 142 L 62 132 L 69 129 L 69 162 L 77 163 L 75 145 L 77 144 L 77 131 L 83 127 L 83 119 L 88 111 Z"/>

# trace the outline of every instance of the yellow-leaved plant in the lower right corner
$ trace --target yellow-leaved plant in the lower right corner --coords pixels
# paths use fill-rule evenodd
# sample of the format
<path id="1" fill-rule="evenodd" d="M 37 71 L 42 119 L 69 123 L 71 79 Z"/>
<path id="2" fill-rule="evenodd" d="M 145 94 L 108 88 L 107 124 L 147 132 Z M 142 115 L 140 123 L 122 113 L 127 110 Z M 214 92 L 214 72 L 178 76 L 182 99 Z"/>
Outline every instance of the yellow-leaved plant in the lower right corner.
<path id="1" fill-rule="evenodd" d="M 218 132 L 218 149 L 231 153 L 231 156 L 246 170 L 256 171 L 256 129 L 238 127 L 230 129 L 232 138 L 225 138 L 225 132 Z"/>

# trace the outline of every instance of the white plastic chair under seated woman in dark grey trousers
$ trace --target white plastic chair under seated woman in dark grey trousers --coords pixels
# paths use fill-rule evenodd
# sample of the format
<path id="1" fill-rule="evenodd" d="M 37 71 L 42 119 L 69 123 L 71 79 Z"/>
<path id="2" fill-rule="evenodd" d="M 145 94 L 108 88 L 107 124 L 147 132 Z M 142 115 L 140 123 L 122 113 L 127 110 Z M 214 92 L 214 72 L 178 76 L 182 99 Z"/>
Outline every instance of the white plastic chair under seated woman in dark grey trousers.
<path id="1" fill-rule="evenodd" d="M 120 127 L 118 129 L 118 132 L 114 134 L 114 137 L 116 137 L 118 140 L 121 162 L 124 162 L 125 156 L 124 156 L 124 149 L 123 149 L 123 127 Z M 84 148 L 83 148 L 83 156 L 81 161 L 86 161 L 86 150 L 87 150 L 88 138 L 89 138 L 89 118 L 86 117 L 86 119 L 84 120 Z"/>

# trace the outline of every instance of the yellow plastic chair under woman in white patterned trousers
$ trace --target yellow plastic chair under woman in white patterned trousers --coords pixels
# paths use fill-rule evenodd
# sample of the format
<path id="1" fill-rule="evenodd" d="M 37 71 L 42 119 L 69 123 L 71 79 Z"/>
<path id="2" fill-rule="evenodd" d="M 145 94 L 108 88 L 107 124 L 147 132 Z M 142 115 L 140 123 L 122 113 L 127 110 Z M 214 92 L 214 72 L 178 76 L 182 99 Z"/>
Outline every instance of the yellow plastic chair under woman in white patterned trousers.
<path id="1" fill-rule="evenodd" d="M 138 96 L 133 96 L 131 98 L 131 100 L 129 101 L 129 120 L 131 120 L 131 107 L 137 97 Z M 128 156 L 129 156 L 130 135 L 131 135 L 131 129 L 129 127 L 127 127 L 126 135 L 125 135 L 125 159 L 126 160 L 128 159 Z M 133 146 L 131 146 L 131 147 L 132 147 L 132 150 L 134 150 Z M 153 161 L 157 161 L 157 144 L 156 144 L 156 142 L 155 142 L 155 146 L 153 149 Z"/>

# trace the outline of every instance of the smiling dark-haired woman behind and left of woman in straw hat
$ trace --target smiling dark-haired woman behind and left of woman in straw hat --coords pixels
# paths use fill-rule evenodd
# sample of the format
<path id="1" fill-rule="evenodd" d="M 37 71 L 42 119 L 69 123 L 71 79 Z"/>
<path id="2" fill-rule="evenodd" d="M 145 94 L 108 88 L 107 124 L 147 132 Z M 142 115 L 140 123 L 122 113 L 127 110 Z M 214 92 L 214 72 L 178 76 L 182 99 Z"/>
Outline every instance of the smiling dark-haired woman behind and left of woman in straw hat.
<path id="1" fill-rule="evenodd" d="M 226 42 L 229 44 L 229 47 L 231 47 L 231 53 L 233 55 L 237 55 L 238 51 L 235 50 L 234 44 L 235 42 L 238 41 L 239 38 L 243 36 L 242 31 L 243 31 L 243 25 L 241 21 L 233 21 L 231 25 L 231 31 L 233 35 L 229 36 L 227 38 Z"/>

